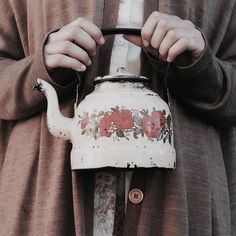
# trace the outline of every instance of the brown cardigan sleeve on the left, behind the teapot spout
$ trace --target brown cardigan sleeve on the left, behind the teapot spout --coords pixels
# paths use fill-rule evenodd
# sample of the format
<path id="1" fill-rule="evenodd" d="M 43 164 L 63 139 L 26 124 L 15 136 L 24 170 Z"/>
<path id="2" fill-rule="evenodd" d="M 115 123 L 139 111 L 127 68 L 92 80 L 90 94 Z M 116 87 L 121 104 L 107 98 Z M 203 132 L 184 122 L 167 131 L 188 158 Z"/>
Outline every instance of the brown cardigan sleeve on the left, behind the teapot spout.
<path id="1" fill-rule="evenodd" d="M 43 59 L 44 42 L 33 54 L 29 53 L 29 32 L 19 33 L 26 22 L 16 17 L 16 9 L 9 2 L 0 2 L 0 119 L 18 120 L 46 108 L 44 95 L 32 90 L 38 77 L 51 83 L 59 96 L 68 93 L 72 83 L 60 85 L 49 75 Z"/>

